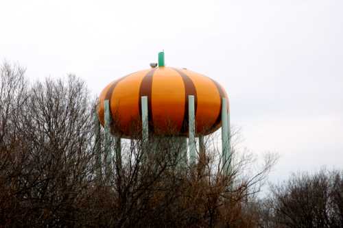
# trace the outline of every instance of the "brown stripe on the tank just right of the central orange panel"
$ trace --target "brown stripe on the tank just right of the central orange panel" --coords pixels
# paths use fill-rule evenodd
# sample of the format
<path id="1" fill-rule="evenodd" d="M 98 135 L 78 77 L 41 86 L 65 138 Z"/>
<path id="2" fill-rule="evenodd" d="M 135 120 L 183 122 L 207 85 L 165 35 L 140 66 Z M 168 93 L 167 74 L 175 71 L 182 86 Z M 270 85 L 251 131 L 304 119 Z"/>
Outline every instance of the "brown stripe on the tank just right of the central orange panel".
<path id="1" fill-rule="evenodd" d="M 189 131 L 188 96 L 189 95 L 194 96 L 194 112 L 196 114 L 196 109 L 198 107 L 198 96 L 196 94 L 196 86 L 194 86 L 193 81 L 185 73 L 178 70 L 177 68 L 173 68 L 173 69 L 181 75 L 183 84 L 185 85 L 185 113 L 183 114 L 181 133 L 187 134 Z"/>

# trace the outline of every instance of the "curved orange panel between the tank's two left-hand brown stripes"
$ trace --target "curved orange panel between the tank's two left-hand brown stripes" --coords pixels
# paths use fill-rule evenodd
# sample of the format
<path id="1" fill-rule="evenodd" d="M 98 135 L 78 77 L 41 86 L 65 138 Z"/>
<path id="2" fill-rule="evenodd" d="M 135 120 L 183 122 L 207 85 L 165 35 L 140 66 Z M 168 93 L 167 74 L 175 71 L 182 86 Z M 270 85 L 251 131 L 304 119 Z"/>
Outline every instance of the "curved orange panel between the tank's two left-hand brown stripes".
<path id="1" fill-rule="evenodd" d="M 149 72 L 139 71 L 128 75 L 118 82 L 110 99 L 110 111 L 114 121 L 118 123 L 124 134 L 128 134 L 134 121 L 139 120 L 139 87 L 143 77 Z"/>

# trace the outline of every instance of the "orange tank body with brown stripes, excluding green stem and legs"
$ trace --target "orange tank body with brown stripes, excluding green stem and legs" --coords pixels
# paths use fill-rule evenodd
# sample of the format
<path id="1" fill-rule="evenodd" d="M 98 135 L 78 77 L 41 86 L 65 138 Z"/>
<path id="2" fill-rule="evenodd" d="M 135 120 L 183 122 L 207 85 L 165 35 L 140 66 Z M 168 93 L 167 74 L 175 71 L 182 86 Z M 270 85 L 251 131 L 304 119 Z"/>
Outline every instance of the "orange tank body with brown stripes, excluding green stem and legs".
<path id="1" fill-rule="evenodd" d="M 160 66 L 117 79 L 102 90 L 97 112 L 104 126 L 104 101 L 109 100 L 111 132 L 134 138 L 132 123 L 141 126 L 141 97 L 147 96 L 149 134 L 188 135 L 188 96 L 195 101 L 196 135 L 221 126 L 222 97 L 228 96 L 216 81 L 185 68 Z M 227 106 L 228 107 L 228 103 Z M 139 124 L 140 123 L 140 124 Z"/>

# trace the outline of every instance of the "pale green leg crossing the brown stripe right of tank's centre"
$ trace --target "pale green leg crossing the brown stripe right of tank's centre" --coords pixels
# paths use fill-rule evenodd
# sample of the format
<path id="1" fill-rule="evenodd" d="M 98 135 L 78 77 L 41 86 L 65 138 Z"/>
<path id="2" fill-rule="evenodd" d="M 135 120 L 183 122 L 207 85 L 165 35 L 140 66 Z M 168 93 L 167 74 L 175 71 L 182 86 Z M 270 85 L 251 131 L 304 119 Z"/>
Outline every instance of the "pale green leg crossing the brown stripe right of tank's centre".
<path id="1" fill-rule="evenodd" d="M 188 118 L 189 118 L 189 162 L 196 163 L 196 121 L 194 114 L 194 96 L 188 96 Z"/>

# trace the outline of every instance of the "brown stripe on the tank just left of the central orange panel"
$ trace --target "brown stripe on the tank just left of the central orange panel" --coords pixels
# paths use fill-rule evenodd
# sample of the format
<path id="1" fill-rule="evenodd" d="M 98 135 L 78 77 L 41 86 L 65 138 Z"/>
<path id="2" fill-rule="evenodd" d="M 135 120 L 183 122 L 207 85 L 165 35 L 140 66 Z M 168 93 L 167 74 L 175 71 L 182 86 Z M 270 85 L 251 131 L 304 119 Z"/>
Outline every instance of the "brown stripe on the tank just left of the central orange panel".
<path id="1" fill-rule="evenodd" d="M 142 116 L 142 101 L 141 97 L 147 96 L 147 116 L 149 121 L 149 131 L 154 133 L 154 123 L 152 121 L 152 76 L 154 75 L 154 72 L 156 71 L 156 68 L 152 68 L 151 71 L 143 77 L 143 80 L 141 82 L 141 87 L 139 88 L 139 116 Z"/>

